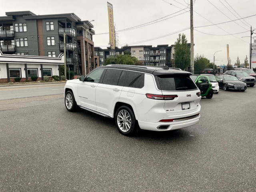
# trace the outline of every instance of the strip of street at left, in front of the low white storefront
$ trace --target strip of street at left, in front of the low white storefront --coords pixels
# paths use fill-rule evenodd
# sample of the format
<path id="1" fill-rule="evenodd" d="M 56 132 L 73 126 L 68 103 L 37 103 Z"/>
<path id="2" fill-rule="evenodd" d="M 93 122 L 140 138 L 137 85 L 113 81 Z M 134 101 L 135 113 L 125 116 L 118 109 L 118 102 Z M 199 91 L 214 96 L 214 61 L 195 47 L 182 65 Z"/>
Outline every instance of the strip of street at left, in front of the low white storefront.
<path id="1" fill-rule="evenodd" d="M 66 83 L 0 87 L 0 100 L 62 94 Z"/>

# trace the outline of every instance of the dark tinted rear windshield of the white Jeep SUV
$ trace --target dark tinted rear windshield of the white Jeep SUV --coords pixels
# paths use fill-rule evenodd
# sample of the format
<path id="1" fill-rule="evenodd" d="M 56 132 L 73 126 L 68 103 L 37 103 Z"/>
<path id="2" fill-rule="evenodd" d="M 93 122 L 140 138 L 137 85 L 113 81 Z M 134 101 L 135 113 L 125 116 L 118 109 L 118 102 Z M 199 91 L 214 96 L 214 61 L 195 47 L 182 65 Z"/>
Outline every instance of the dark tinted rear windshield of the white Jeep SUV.
<path id="1" fill-rule="evenodd" d="M 158 89 L 163 91 L 182 91 L 197 89 L 196 84 L 187 75 L 159 75 L 156 76 Z"/>

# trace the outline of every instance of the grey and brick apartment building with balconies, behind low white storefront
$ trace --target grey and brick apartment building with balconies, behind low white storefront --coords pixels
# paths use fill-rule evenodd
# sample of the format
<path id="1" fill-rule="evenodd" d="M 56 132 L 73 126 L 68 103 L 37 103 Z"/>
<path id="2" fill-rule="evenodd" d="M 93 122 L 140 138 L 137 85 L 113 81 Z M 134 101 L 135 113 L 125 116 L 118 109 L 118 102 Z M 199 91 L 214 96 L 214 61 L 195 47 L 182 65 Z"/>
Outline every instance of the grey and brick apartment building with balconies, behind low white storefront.
<path id="1" fill-rule="evenodd" d="M 74 13 L 6 12 L 6 16 L 0 16 L 0 51 L 3 54 L 58 57 L 64 52 L 65 33 L 66 65 L 75 75 L 85 75 L 97 67 L 93 27 Z"/>

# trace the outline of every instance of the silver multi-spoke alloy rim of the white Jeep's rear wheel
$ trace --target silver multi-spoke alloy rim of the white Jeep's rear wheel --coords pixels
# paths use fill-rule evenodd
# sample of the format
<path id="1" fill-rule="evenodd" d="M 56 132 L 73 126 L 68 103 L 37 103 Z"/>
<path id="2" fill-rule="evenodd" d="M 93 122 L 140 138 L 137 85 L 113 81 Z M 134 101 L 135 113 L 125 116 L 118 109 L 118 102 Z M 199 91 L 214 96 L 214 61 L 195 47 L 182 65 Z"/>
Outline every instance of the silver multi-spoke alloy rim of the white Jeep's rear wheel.
<path id="1" fill-rule="evenodd" d="M 117 115 L 117 124 L 122 132 L 128 132 L 132 126 L 132 119 L 128 111 L 122 109 Z"/>

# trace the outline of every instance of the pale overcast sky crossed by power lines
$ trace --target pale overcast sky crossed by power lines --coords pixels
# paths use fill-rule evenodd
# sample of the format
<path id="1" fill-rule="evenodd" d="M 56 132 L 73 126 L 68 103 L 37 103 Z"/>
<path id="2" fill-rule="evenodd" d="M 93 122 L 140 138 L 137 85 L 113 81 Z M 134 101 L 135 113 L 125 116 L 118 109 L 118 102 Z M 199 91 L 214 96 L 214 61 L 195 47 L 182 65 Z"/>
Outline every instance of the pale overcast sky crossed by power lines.
<path id="1" fill-rule="evenodd" d="M 186 8 L 186 6 L 183 6 L 182 4 L 186 5 L 188 2 L 188 0 L 165 1 L 173 5 L 170 5 L 163 0 L 109 0 L 109 2 L 113 5 L 114 23 L 116 24 L 116 29 L 122 30 L 162 18 Z M 256 0 L 226 0 L 226 2 L 228 2 L 228 4 L 230 4 L 230 6 L 236 12 L 232 10 L 225 0 L 209 1 L 220 11 L 226 14 L 226 16 L 212 6 L 208 0 L 196 0 L 194 4 L 194 11 L 204 16 L 209 21 L 194 13 L 194 27 L 226 22 L 230 21 L 230 19 L 235 20 L 237 19 L 236 16 L 240 18 L 236 12 L 242 17 L 256 14 Z M 180 2 L 181 4 L 177 2 Z M 221 2 L 236 16 L 229 12 L 228 9 L 221 4 Z M 40 15 L 75 13 L 82 20 L 95 20 L 92 22 L 92 24 L 94 25 L 96 34 L 108 32 L 108 10 L 106 0 L 0 0 L 0 4 L 0 16 L 4 16 L 5 12 L 8 11 L 22 10 L 30 10 L 35 14 Z M 188 11 L 188 9 L 186 10 Z M 155 24 L 119 32 L 119 44 L 122 45 L 127 43 L 129 45 L 153 46 L 160 44 L 174 44 L 176 38 L 178 37 L 178 33 L 172 33 L 190 27 L 190 14 L 189 12 L 185 12 L 186 10 L 169 16 L 172 17 L 180 14 L 173 18 L 165 17 L 164 19 L 169 19 L 157 22 Z M 182 14 L 183 12 L 185 13 Z M 256 16 L 246 18 L 245 21 L 256 28 Z M 229 22 L 218 25 L 223 30 L 217 26 L 208 26 L 195 29 L 204 33 L 215 35 L 226 35 L 228 33 L 235 34 L 250 30 L 250 26 L 245 21 L 238 20 L 236 21 L 237 24 L 235 22 Z M 186 34 L 188 42 L 190 42 L 190 30 L 185 30 L 183 33 Z M 166 34 L 172 35 L 138 44 L 133 43 L 164 36 Z M 250 32 L 236 34 L 234 36 L 214 36 L 208 34 L 203 34 L 194 30 L 195 56 L 197 53 L 199 55 L 203 54 L 210 61 L 213 61 L 214 52 L 222 50 L 222 52 L 215 54 L 215 63 L 217 65 L 227 64 L 226 44 L 229 44 L 232 64 L 234 64 L 237 56 L 239 56 L 241 63 L 244 62 L 246 55 L 249 57 L 250 38 L 241 37 L 250 36 Z M 102 48 L 105 48 L 104 46 L 108 45 L 109 37 L 108 34 L 99 34 L 94 35 L 93 40 L 94 46 L 101 46 Z"/>

